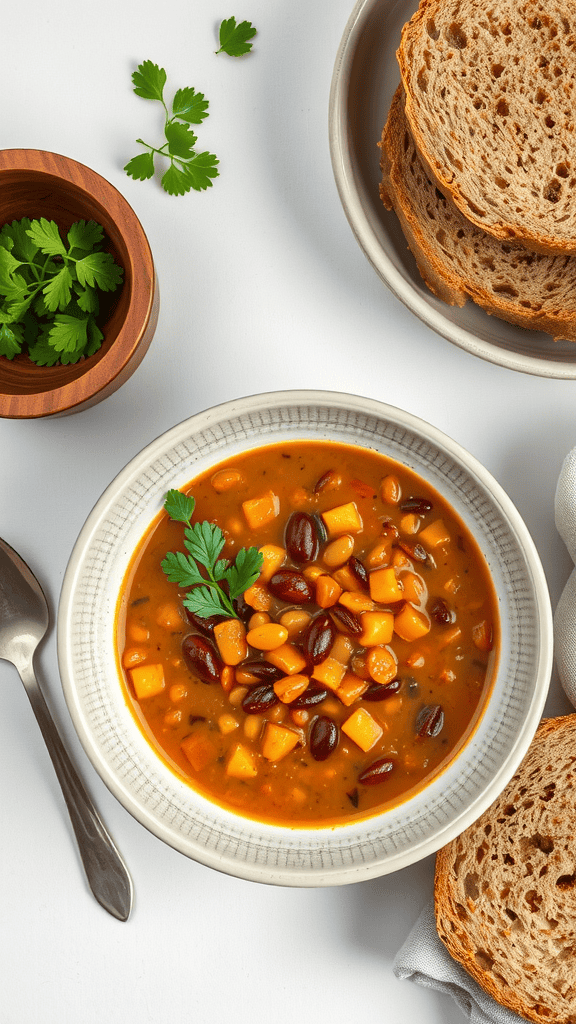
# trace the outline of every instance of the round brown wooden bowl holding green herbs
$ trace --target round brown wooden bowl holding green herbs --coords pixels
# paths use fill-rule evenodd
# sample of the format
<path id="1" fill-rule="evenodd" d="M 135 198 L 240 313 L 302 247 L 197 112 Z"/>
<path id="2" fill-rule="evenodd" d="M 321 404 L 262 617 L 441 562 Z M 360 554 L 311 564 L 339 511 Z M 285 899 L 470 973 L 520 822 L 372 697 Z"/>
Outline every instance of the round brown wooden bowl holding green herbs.
<path id="1" fill-rule="evenodd" d="M 101 224 L 123 270 L 100 329 L 99 350 L 70 366 L 38 367 L 28 355 L 0 356 L 0 416 L 65 416 L 107 398 L 143 358 L 158 322 L 159 294 L 141 224 L 120 193 L 83 164 L 38 150 L 0 151 L 0 226 L 22 217 Z"/>

